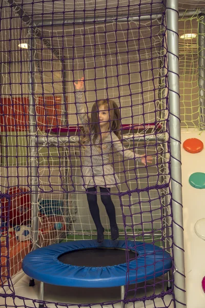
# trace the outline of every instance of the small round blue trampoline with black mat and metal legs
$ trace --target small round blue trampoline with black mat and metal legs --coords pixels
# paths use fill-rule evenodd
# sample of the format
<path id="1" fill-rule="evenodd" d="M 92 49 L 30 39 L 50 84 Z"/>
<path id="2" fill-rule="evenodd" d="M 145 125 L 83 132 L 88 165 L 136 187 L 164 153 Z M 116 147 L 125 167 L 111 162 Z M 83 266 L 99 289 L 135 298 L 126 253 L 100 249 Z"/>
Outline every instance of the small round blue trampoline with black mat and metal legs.
<path id="1" fill-rule="evenodd" d="M 87 288 L 121 286 L 124 293 L 126 284 L 156 278 L 171 267 L 172 258 L 164 249 L 134 241 L 128 241 L 126 245 L 121 240 L 53 244 L 32 251 L 22 264 L 25 274 L 41 282 L 40 300 L 44 299 L 43 283 Z"/>

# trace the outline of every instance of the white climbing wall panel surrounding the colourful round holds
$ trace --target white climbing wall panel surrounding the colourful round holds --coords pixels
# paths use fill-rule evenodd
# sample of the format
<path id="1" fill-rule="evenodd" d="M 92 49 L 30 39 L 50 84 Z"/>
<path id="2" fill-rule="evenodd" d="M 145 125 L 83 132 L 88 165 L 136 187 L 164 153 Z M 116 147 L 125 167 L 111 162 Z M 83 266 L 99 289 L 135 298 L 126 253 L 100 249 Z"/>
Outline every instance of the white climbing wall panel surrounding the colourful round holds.
<path id="1" fill-rule="evenodd" d="M 192 154 L 181 146 L 187 308 L 204 308 L 205 293 L 201 280 L 205 276 L 205 241 L 195 234 L 194 225 L 199 219 L 205 218 L 205 189 L 192 187 L 189 177 L 194 172 L 205 173 L 205 132 L 181 133 L 182 143 L 189 138 L 201 140 L 204 149 Z"/>

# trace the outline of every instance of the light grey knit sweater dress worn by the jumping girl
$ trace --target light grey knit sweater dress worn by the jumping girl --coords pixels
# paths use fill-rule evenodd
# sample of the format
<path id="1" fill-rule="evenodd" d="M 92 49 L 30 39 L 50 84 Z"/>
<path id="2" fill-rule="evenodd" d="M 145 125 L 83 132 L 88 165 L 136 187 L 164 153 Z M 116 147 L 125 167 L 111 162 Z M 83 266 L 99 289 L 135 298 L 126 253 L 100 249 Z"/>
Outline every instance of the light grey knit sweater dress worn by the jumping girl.
<path id="1" fill-rule="evenodd" d="M 82 124 L 88 125 L 88 114 L 84 110 L 82 98 L 83 93 L 80 91 L 76 92 L 78 117 Z M 122 156 L 122 161 L 126 159 L 139 159 L 139 157 L 135 152 L 126 149 L 113 131 L 103 139 L 103 144 L 100 148 L 100 136 L 97 138 L 95 145 L 92 144 L 92 136 L 90 140 L 91 142 L 85 144 L 85 150 L 80 153 L 81 171 L 83 174 L 81 184 L 84 188 L 116 186 L 119 183 L 119 179 L 114 174 L 114 159 L 110 160 L 110 157 L 113 158 L 115 153 L 119 153 Z"/>

